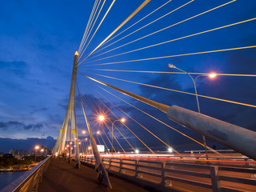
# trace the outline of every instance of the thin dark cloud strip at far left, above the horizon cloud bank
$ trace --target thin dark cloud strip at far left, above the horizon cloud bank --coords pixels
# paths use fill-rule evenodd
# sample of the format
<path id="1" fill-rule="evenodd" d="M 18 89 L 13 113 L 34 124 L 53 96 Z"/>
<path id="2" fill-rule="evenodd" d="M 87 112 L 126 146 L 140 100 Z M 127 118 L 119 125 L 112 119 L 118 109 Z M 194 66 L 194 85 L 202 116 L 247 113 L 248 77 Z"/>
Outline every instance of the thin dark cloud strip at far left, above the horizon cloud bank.
<path id="1" fill-rule="evenodd" d="M 11 128 L 22 128 L 24 130 L 40 130 L 43 125 L 42 123 L 37 123 L 37 124 L 26 124 L 24 122 L 15 122 L 15 121 L 10 121 L 10 122 L 0 122 L 0 129 L 2 130 L 8 130 Z"/>

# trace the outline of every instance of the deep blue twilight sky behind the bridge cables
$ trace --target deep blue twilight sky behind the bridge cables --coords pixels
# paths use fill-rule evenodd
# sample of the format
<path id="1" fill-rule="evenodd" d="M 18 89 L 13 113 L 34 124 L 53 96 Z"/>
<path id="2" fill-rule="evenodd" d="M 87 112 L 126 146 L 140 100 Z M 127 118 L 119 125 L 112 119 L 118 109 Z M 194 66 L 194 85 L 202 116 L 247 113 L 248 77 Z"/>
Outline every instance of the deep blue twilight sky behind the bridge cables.
<path id="1" fill-rule="evenodd" d="M 111 2 L 110 0 L 106 0 L 90 37 Z M 82 58 L 89 54 L 91 50 L 94 50 L 94 48 L 142 4 L 142 2 L 142 0 L 117 0 L 114 2 L 114 6 L 106 16 L 104 22 L 102 22 L 102 26 L 100 26 L 97 33 L 94 35 L 94 38 Z M 256 21 L 254 20 L 236 26 L 230 26 L 225 29 L 214 30 L 209 33 L 169 42 L 161 46 L 154 46 L 129 54 L 122 54 L 130 50 L 136 50 L 159 42 L 166 42 L 175 38 L 181 38 L 186 35 L 196 34 L 205 30 L 211 30 L 256 17 L 254 11 L 256 9 L 256 2 L 254 0 L 248 0 L 246 2 L 242 0 L 234 2 L 226 0 L 172 0 L 170 2 L 167 0 L 151 0 L 148 5 L 138 12 L 134 18 L 130 19 L 116 34 L 125 30 L 166 2 L 168 2 L 166 6 L 163 6 L 161 9 L 154 12 L 154 14 L 143 19 L 142 22 L 138 22 L 138 24 L 132 26 L 129 30 L 126 30 L 123 34 L 111 40 L 111 42 L 125 37 L 134 30 L 138 30 L 142 26 L 145 26 L 180 6 L 182 6 L 182 8 L 175 10 L 173 13 L 146 26 L 142 30 L 138 30 L 127 38 L 123 38 L 113 45 L 106 47 L 106 49 L 93 54 L 90 59 L 87 59 L 78 66 L 78 72 L 98 78 L 103 82 L 108 82 L 135 94 L 153 99 L 154 101 L 162 102 L 170 106 L 183 106 L 190 110 L 197 110 L 194 96 L 178 94 L 148 86 L 135 85 L 130 82 L 121 82 L 96 74 L 194 93 L 193 83 L 187 74 L 127 73 L 105 70 L 178 72 L 178 70 L 167 67 L 168 63 L 173 63 L 178 68 L 191 73 L 256 73 L 255 48 L 138 62 L 123 62 L 134 59 L 156 58 L 168 55 L 189 54 L 201 51 L 256 45 Z M 216 10 L 212 10 L 209 13 L 199 15 L 196 18 L 191 18 L 186 22 L 181 22 L 186 18 L 201 14 L 206 10 L 221 6 L 226 2 L 230 3 Z M 187 5 L 183 6 L 186 3 Z M 100 6 L 101 5 L 102 3 Z M 0 152 L 6 152 L 10 148 L 29 150 L 33 147 L 34 143 L 52 147 L 54 143 L 53 139 L 57 138 L 58 131 L 62 126 L 62 121 L 66 114 L 74 52 L 79 48 L 93 6 L 94 1 L 78 0 L 72 2 L 66 0 L 10 0 L 2 2 L 0 6 L 0 143 L 4 144 L 0 145 Z M 169 29 L 162 30 L 158 34 L 142 38 L 147 34 L 151 34 L 178 22 L 181 23 Z M 122 46 L 138 38 L 142 39 Z M 111 42 L 106 43 L 106 45 L 102 47 L 110 45 Z M 122 47 L 112 50 L 118 46 Z M 102 54 L 107 50 L 112 51 Z M 102 55 L 93 58 L 98 54 Z M 115 54 L 121 55 L 106 58 Z M 104 59 L 98 60 L 100 58 Z M 110 65 L 110 63 L 112 64 Z M 125 102 L 114 98 L 114 96 L 106 93 L 105 90 L 98 88 L 94 82 L 86 79 L 82 74 L 78 73 L 78 86 L 82 94 L 94 103 L 94 105 L 92 105 L 91 102 L 86 102 L 86 109 L 88 110 L 93 130 L 98 130 L 96 126 L 102 125 L 95 120 L 97 114 L 104 113 L 108 115 L 112 121 L 116 119 L 113 114 L 107 112 L 106 107 L 102 104 L 102 102 L 104 102 L 118 117 L 126 117 L 126 126 L 130 127 L 135 134 L 138 134 L 147 145 L 153 147 L 152 149 L 160 149 L 163 145 L 150 134 L 146 133 L 141 126 L 138 126 L 138 124 L 127 117 L 126 114 L 122 114 L 116 106 L 120 107 L 135 120 L 138 120 L 143 126 L 154 132 L 154 134 L 157 134 L 159 138 L 162 138 L 169 145 L 174 146 L 174 148 L 190 149 L 190 147 L 195 146 L 194 142 L 190 142 L 189 139 L 182 137 L 181 134 L 177 134 L 166 126 L 162 126 L 145 114 L 135 110 L 132 106 L 128 106 Z M 230 99 L 235 102 L 243 102 L 252 105 L 256 105 L 255 83 L 256 77 L 217 76 L 214 79 L 199 77 L 197 80 L 198 94 Z M 200 135 L 171 122 L 162 112 L 158 112 L 154 110 L 154 108 L 119 94 L 114 90 L 103 86 L 102 88 L 202 142 Z M 97 91 L 101 94 L 98 94 Z M 102 94 L 110 101 L 104 98 Z M 102 102 L 99 102 L 98 98 L 102 100 Z M 85 129 L 85 123 L 78 97 L 76 101 L 78 132 L 80 134 L 81 130 Z M 116 106 L 111 104 L 111 102 L 114 102 Z M 207 98 L 199 98 L 199 102 L 203 114 L 250 130 L 256 130 L 256 120 L 254 118 L 256 108 L 254 107 L 219 102 Z M 100 110 L 99 106 L 102 110 Z M 108 125 L 110 125 L 110 123 L 108 123 Z M 134 135 L 130 134 L 124 126 L 118 123 L 117 126 L 122 130 L 122 133 L 130 139 L 130 142 L 134 143 L 134 147 L 141 147 L 141 149 L 144 150 L 142 144 L 138 142 L 138 140 L 134 138 Z M 104 129 L 106 129 L 106 127 Z M 110 131 L 106 130 L 106 134 L 110 136 Z M 120 143 L 124 147 L 130 147 L 127 146 L 127 143 L 117 131 L 115 134 L 120 138 Z M 106 139 L 106 136 L 102 136 Z M 80 138 L 82 137 L 84 136 Z M 210 143 L 210 145 L 212 145 L 212 142 Z"/>

